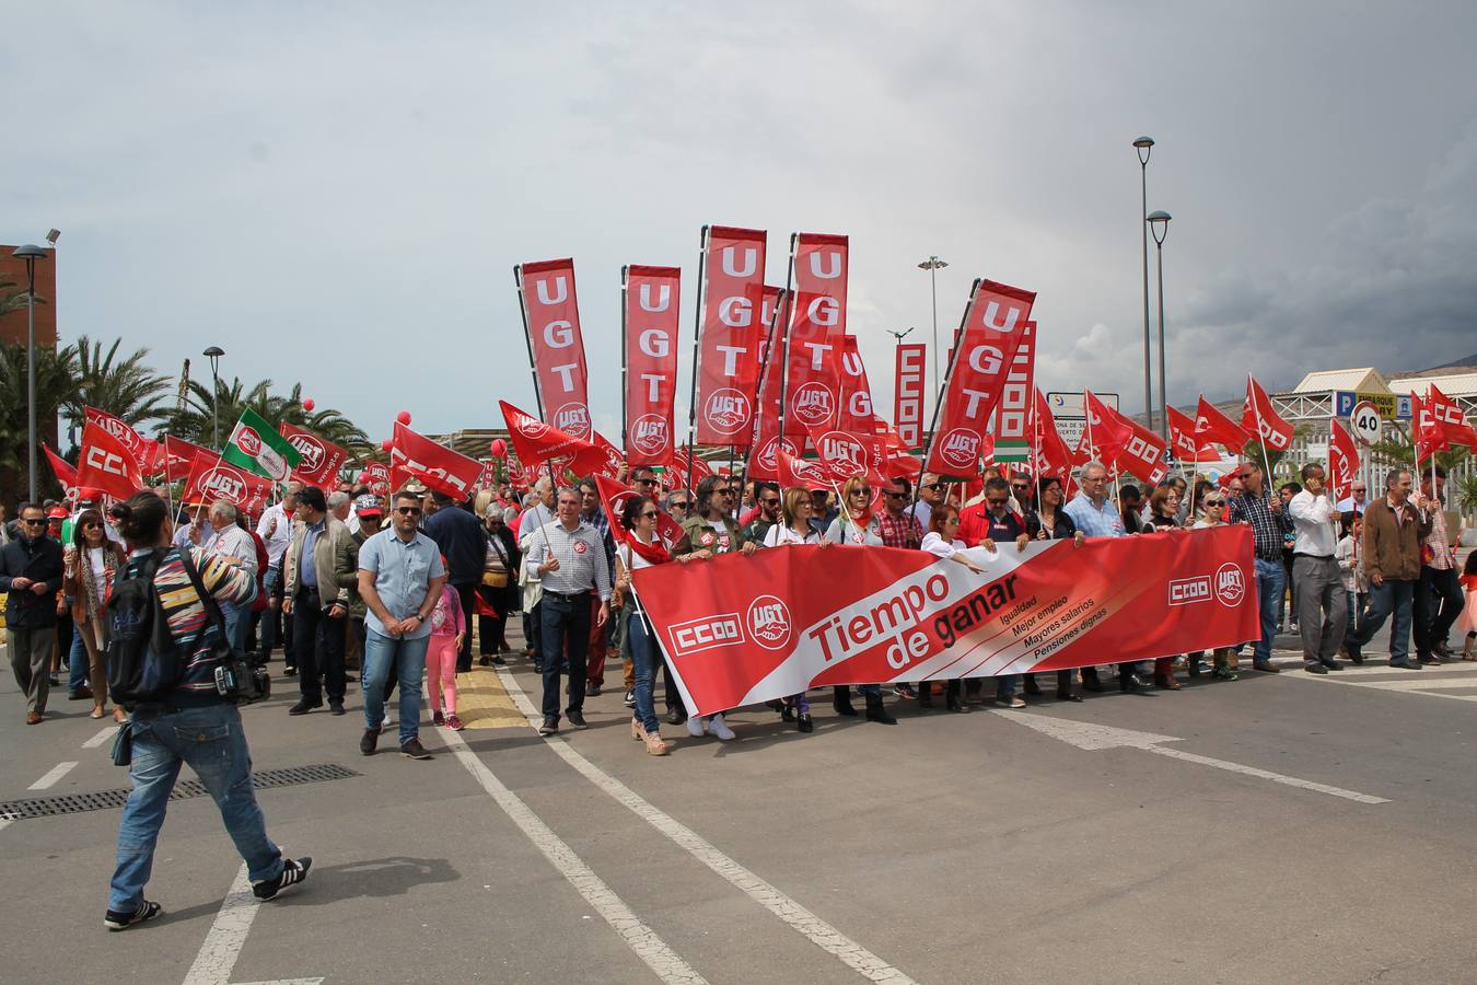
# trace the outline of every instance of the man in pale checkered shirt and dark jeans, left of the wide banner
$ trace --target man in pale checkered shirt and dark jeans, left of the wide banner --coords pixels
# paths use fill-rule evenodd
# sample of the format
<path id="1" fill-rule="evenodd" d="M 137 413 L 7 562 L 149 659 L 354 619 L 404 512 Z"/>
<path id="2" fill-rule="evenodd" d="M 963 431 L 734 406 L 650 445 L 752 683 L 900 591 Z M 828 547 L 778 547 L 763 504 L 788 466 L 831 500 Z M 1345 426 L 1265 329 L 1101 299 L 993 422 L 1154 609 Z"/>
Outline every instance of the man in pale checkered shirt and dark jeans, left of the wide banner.
<path id="1" fill-rule="evenodd" d="M 560 489 L 557 523 L 544 524 L 526 540 L 524 566 L 533 566 L 544 586 L 539 604 L 539 651 L 544 654 L 544 725 L 541 735 L 558 731 L 558 678 L 569 673 L 569 707 L 564 716 L 575 728 L 585 725 L 585 660 L 589 654 L 589 625 L 610 620 L 610 567 L 606 545 L 595 527 L 579 518 L 579 490 Z M 600 607 L 591 605 L 591 594 Z M 592 611 L 594 610 L 594 611 Z M 569 653 L 564 657 L 564 645 Z"/>

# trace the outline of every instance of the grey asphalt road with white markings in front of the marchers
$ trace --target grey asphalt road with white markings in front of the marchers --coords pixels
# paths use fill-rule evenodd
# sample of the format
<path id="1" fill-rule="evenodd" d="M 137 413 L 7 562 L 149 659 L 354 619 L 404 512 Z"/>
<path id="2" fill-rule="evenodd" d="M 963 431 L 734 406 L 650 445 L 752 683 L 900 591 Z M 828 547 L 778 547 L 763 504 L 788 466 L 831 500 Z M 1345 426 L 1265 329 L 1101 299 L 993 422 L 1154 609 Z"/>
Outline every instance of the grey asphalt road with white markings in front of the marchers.
<path id="1" fill-rule="evenodd" d="M 214 806 L 179 800 L 148 890 L 165 914 L 106 933 L 120 811 L 0 821 L 0 979 L 1477 981 L 1477 663 L 1281 663 L 1025 712 L 899 700 L 897 727 L 815 693 L 811 735 L 750 709 L 734 743 L 668 727 L 665 759 L 619 687 L 588 731 L 539 738 L 523 662 L 462 678 L 473 727 L 422 727 L 430 762 L 388 737 L 360 756 L 357 696 L 288 718 L 279 681 L 244 710 L 256 769 L 357 774 L 258 794 L 312 879 L 232 896 Z M 127 786 L 103 724 L 56 697 L 25 727 L 0 687 L 0 799 Z"/>

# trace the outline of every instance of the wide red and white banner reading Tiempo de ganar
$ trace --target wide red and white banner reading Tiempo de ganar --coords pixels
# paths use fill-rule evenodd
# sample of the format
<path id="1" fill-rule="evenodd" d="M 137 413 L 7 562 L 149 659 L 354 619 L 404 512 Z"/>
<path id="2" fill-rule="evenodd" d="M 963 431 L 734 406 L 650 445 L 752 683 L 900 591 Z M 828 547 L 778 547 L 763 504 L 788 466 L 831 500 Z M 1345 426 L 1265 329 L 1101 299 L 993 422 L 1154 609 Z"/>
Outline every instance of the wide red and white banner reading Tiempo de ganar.
<path id="1" fill-rule="evenodd" d="M 1258 634 L 1250 527 L 969 558 L 982 574 L 923 551 L 787 546 L 634 582 L 693 715 L 809 687 L 1145 660 Z"/>

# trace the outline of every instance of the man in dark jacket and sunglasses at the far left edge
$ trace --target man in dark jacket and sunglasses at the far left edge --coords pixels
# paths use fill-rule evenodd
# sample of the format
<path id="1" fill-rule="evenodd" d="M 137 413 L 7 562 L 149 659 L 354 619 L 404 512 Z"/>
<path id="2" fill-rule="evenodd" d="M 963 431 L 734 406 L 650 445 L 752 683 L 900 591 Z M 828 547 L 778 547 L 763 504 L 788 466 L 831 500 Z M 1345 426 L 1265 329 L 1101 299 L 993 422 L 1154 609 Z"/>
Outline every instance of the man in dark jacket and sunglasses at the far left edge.
<path id="1" fill-rule="evenodd" d="M 0 548 L 0 592 L 15 682 L 25 694 L 25 724 L 46 716 L 52 645 L 56 642 L 56 592 L 62 588 L 62 545 L 46 536 L 46 512 L 21 507 L 21 536 Z"/>

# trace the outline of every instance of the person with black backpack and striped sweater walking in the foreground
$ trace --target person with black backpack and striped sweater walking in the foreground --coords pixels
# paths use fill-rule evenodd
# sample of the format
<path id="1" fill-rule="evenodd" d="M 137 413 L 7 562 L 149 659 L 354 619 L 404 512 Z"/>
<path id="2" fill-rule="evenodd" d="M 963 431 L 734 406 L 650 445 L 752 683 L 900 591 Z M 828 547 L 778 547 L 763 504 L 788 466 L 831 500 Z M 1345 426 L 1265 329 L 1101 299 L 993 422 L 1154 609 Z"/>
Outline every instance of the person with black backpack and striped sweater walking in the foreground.
<path id="1" fill-rule="evenodd" d="M 118 862 L 103 919 L 109 930 L 126 930 L 162 911 L 145 899 L 143 888 L 183 763 L 220 809 L 257 899 L 273 899 L 303 882 L 313 864 L 312 858 L 282 858 L 267 837 L 251 787 L 241 712 L 222 681 L 229 667 L 220 660 L 220 604 L 250 603 L 256 580 L 230 555 L 176 546 L 167 512 L 152 492 L 136 493 L 117 508 L 130 555 L 108 603 L 108 684 L 131 716 L 120 731 L 114 762 L 128 765 L 133 790 L 118 826 Z"/>

